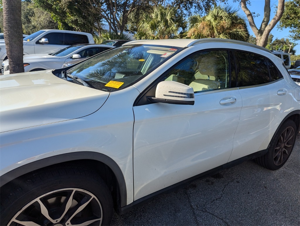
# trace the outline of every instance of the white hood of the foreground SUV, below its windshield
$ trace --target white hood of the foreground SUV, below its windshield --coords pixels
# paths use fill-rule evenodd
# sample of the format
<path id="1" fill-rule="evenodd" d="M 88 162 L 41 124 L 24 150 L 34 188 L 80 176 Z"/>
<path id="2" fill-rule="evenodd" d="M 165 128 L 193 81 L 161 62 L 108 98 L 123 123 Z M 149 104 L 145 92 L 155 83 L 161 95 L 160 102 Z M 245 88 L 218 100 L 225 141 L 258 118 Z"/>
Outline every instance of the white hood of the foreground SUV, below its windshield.
<path id="1" fill-rule="evenodd" d="M 0 132 L 87 116 L 109 96 L 60 79 L 51 71 L 1 76 L 0 88 Z"/>

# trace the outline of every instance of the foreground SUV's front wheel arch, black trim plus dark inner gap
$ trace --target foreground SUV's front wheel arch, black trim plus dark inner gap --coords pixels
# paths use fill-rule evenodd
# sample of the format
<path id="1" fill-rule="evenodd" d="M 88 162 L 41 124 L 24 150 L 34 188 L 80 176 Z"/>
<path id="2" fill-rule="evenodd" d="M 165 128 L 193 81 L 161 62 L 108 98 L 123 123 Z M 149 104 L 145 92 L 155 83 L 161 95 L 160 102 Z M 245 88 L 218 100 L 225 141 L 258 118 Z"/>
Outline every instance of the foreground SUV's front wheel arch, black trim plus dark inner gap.
<path id="1" fill-rule="evenodd" d="M 0 177 L 1 187 L 8 182 L 24 176 L 35 170 L 55 167 L 56 164 L 83 165 L 96 170 L 112 192 L 115 210 L 127 205 L 127 190 L 122 170 L 118 164 L 107 155 L 97 152 L 72 152 L 40 159 L 10 170 Z"/>

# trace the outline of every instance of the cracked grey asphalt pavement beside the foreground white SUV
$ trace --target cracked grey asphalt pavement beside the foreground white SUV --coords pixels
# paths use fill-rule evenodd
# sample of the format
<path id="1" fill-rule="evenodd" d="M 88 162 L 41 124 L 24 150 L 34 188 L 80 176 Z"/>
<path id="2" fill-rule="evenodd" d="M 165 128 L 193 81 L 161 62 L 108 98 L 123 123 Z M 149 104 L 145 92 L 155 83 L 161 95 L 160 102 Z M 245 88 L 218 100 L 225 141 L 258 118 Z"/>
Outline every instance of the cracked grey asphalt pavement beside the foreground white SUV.
<path id="1" fill-rule="evenodd" d="M 300 136 L 286 164 L 246 161 L 121 216 L 112 225 L 300 225 Z"/>

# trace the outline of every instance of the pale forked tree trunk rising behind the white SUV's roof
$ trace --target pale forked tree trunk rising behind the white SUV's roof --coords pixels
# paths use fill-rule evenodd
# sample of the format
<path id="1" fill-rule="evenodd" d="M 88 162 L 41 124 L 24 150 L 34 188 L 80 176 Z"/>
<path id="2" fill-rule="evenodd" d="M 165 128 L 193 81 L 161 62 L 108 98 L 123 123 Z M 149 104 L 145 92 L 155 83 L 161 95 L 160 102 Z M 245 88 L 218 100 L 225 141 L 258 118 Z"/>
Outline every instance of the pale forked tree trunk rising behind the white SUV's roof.
<path id="1" fill-rule="evenodd" d="M 246 5 L 247 0 L 241 0 L 241 8 L 247 16 L 249 21 L 249 25 L 256 37 L 256 45 L 265 47 L 268 43 L 268 36 L 271 30 L 275 27 L 278 23 L 280 18 L 282 17 L 283 10 L 284 10 L 284 0 L 278 0 L 277 12 L 273 19 L 270 21 L 270 13 L 271 13 L 271 6 L 270 0 L 265 0 L 265 7 L 264 7 L 264 15 L 262 19 L 262 23 L 260 28 L 258 29 L 254 23 L 253 15 L 250 10 L 247 8 Z"/>

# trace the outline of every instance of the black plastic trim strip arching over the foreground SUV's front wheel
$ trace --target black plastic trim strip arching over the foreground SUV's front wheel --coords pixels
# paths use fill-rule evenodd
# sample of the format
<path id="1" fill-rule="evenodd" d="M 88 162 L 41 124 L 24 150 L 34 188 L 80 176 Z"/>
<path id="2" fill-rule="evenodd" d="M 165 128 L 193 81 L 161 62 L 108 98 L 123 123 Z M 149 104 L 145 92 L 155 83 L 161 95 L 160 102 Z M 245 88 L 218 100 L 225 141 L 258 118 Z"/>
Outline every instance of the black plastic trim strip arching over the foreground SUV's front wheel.
<path id="1" fill-rule="evenodd" d="M 13 179 L 16 179 L 17 177 L 22 176 L 31 171 L 38 170 L 58 163 L 73 161 L 73 160 L 96 160 L 110 167 L 110 169 L 115 174 L 119 184 L 120 199 L 121 199 L 120 206 L 121 207 L 126 206 L 127 190 L 126 190 L 125 179 L 120 167 L 113 159 L 111 159 L 107 155 L 98 152 L 71 152 L 71 153 L 51 156 L 48 158 L 43 158 L 38 161 L 28 163 L 26 165 L 22 165 L 16 169 L 10 170 L 9 172 L 3 174 L 0 177 L 0 184 L 1 186 L 3 186 L 4 184 L 12 181 Z"/>

